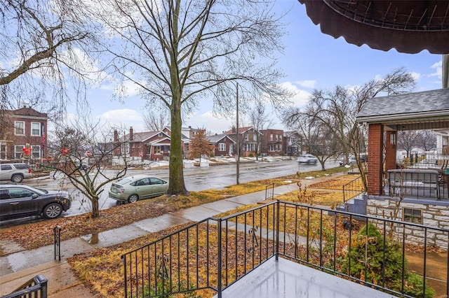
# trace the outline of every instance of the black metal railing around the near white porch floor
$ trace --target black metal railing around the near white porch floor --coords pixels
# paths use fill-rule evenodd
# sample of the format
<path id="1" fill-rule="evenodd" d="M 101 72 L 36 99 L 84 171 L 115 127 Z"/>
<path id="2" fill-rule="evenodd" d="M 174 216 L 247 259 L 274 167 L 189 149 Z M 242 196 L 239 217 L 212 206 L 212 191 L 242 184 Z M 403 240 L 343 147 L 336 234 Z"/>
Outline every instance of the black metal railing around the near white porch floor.
<path id="1" fill-rule="evenodd" d="M 283 257 L 392 295 L 413 297 L 411 287 L 427 297 L 437 288 L 440 297 L 449 294 L 448 243 L 448 229 L 275 201 L 208 218 L 122 255 L 124 295 L 203 290 L 220 298 L 250 271 Z M 429 265 L 433 252 L 445 264 L 438 276 Z M 407 262 L 412 253 L 415 262 Z"/>

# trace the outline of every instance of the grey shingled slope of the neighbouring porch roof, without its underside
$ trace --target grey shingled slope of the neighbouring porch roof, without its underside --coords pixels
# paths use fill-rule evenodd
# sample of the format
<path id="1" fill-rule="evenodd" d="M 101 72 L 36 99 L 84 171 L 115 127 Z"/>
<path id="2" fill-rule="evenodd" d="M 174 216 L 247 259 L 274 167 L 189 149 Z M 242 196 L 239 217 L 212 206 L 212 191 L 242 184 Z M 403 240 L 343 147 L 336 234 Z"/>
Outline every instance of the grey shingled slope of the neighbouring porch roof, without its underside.
<path id="1" fill-rule="evenodd" d="M 449 116 L 449 89 L 374 97 L 358 113 L 358 122 Z"/>

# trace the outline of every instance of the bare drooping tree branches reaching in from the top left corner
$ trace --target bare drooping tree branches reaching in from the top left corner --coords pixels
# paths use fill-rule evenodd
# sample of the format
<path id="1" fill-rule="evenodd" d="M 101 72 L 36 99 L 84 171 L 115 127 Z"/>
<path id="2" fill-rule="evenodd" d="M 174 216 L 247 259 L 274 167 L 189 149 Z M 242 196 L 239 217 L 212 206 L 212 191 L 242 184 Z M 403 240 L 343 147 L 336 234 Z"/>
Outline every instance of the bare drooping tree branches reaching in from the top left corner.
<path id="1" fill-rule="evenodd" d="M 77 52 L 93 41 L 81 7 L 79 0 L 0 0 L 0 111 L 26 103 L 55 118 L 67 104 L 67 76 L 81 90 L 86 72 Z"/>

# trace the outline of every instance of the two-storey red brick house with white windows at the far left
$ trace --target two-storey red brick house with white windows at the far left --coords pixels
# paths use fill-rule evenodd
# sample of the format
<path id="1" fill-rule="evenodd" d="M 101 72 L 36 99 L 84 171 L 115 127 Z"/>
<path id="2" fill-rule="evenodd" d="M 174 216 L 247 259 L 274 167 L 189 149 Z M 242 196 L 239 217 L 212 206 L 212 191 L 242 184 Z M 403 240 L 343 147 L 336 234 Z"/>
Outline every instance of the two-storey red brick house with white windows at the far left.
<path id="1" fill-rule="evenodd" d="M 41 163 L 47 155 L 46 113 L 29 106 L 2 111 L 4 119 L 0 130 L 0 161 L 29 161 Z M 29 154 L 24 148 L 29 148 Z"/>

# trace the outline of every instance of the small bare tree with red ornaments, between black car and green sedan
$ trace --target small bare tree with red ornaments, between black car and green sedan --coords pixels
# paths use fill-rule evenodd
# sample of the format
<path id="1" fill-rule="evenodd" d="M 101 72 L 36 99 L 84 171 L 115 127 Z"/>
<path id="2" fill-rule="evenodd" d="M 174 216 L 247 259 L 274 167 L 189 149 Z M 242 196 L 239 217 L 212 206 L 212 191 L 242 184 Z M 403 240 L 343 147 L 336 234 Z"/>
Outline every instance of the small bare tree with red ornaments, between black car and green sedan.
<path id="1" fill-rule="evenodd" d="M 76 187 L 79 193 L 90 201 L 89 208 L 93 217 L 100 215 L 99 200 L 105 185 L 126 175 L 127 160 L 124 155 L 117 157 L 122 143 L 111 142 L 112 136 L 101 135 L 102 127 L 86 121 L 76 121 L 70 125 L 58 127 L 55 139 L 48 143 L 48 151 L 53 152 L 49 165 L 55 171 L 55 177 L 62 174 L 64 179 Z M 114 159 L 121 158 L 123 167 L 105 172 L 105 166 L 111 168 Z"/>

